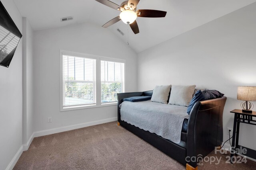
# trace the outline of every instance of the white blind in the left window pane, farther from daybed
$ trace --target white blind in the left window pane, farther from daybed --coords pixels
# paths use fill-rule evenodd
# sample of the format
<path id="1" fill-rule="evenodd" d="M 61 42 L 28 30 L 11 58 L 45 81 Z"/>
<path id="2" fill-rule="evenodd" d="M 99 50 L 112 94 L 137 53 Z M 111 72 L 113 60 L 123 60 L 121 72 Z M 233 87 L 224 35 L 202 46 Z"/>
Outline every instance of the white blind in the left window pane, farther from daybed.
<path id="1" fill-rule="evenodd" d="M 63 106 L 96 104 L 96 59 L 63 57 Z"/>

